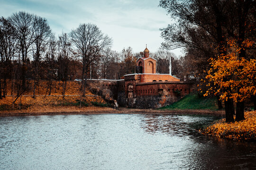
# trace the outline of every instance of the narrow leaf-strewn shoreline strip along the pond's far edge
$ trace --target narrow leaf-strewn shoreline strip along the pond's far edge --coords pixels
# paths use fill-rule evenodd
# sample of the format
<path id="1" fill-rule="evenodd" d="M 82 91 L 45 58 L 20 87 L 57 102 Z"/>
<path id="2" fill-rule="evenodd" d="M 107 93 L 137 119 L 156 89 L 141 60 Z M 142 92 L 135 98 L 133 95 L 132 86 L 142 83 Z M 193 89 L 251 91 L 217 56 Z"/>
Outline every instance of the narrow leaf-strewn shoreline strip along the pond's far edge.
<path id="1" fill-rule="evenodd" d="M 0 111 L 0 117 L 13 116 L 41 116 L 41 115 L 82 115 L 82 114 L 196 114 L 213 115 L 222 117 L 224 110 L 152 110 L 152 109 L 129 109 L 121 107 L 118 110 L 106 107 L 82 107 L 75 106 L 43 106 L 33 107 L 26 110 Z"/>

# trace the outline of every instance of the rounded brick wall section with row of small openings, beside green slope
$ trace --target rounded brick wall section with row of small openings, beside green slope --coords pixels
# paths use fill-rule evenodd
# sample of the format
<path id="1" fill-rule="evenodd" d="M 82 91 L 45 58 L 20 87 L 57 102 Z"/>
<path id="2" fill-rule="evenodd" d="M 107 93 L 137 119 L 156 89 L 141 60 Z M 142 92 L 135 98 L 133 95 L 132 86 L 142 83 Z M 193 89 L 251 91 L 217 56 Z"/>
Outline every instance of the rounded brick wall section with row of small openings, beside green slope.
<path id="1" fill-rule="evenodd" d="M 127 106 L 137 109 L 164 107 L 191 93 L 192 88 L 193 84 L 186 82 L 137 83 L 133 88 L 133 98 L 127 95 Z"/>

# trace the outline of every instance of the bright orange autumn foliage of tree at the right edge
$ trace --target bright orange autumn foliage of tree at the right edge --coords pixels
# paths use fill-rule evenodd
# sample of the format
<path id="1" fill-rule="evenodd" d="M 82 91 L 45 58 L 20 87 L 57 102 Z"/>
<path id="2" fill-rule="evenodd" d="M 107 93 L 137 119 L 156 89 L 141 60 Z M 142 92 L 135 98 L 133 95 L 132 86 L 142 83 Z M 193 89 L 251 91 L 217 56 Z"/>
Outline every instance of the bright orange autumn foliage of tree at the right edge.
<path id="1" fill-rule="evenodd" d="M 239 57 L 241 50 L 254 46 L 255 41 L 246 40 L 242 44 L 242 47 L 238 47 L 236 40 L 229 40 L 226 55 L 210 58 L 211 68 L 206 76 L 208 90 L 204 96 L 219 94 L 223 102 L 233 99 L 238 103 L 256 95 L 256 59 Z M 236 120 L 244 119 L 244 115 L 236 117 L 239 117 Z"/>

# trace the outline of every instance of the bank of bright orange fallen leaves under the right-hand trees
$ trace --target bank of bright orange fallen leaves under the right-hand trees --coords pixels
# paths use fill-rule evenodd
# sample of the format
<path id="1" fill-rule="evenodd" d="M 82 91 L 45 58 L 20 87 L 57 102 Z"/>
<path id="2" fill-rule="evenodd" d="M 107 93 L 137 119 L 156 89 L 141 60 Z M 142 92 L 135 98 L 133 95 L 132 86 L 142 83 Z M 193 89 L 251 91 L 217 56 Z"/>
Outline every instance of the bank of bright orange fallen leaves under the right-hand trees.
<path id="1" fill-rule="evenodd" d="M 245 112 L 245 120 L 234 123 L 226 123 L 220 119 L 209 127 L 201 130 L 202 134 L 234 140 L 256 141 L 256 111 Z"/>

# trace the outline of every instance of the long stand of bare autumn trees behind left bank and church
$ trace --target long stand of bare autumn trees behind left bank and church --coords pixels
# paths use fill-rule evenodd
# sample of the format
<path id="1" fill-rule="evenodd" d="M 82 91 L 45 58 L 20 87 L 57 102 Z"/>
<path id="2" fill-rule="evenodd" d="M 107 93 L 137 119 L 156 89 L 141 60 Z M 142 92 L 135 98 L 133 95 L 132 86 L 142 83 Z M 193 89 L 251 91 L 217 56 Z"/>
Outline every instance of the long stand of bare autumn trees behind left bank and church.
<path id="1" fill-rule="evenodd" d="M 24 11 L 0 18 L 0 100 L 14 96 L 56 94 L 65 96 L 67 82 L 81 82 L 78 94 L 85 95 L 86 80 L 122 79 L 135 73 L 136 60 L 143 52 L 131 47 L 111 50 L 113 40 L 93 24 L 80 24 L 70 33 L 55 35 L 46 18 Z M 142 49 L 143 51 L 144 49 Z M 162 55 L 163 54 L 163 55 Z M 178 58 L 165 50 L 151 53 L 160 60 L 159 73 L 169 73 L 172 57 L 179 76 Z M 41 83 L 40 83 L 41 82 Z M 44 82 L 44 90 L 38 90 Z M 61 89 L 61 90 L 60 90 Z"/>

